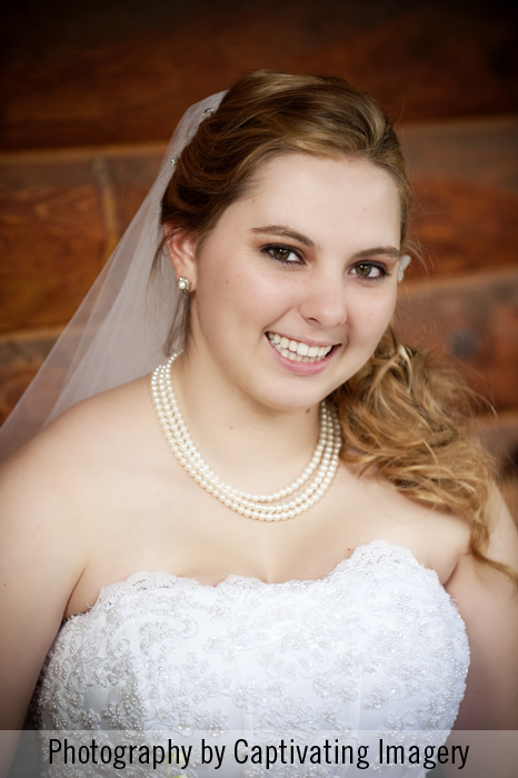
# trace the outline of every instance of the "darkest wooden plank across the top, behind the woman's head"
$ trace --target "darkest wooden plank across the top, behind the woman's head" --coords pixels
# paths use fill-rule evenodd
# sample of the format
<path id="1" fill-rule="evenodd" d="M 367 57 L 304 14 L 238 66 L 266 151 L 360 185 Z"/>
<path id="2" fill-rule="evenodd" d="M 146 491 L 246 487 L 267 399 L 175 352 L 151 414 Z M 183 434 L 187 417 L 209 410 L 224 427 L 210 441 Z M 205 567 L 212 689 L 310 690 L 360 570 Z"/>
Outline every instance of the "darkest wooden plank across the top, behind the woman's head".
<path id="1" fill-rule="evenodd" d="M 166 140 L 189 104 L 253 68 L 341 76 L 407 122 L 517 107 L 517 14 L 501 0 L 137 6 L 12 3 L 0 148 Z"/>

